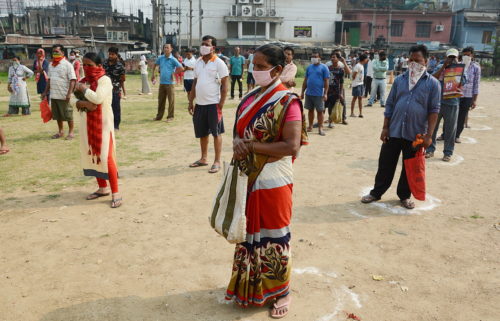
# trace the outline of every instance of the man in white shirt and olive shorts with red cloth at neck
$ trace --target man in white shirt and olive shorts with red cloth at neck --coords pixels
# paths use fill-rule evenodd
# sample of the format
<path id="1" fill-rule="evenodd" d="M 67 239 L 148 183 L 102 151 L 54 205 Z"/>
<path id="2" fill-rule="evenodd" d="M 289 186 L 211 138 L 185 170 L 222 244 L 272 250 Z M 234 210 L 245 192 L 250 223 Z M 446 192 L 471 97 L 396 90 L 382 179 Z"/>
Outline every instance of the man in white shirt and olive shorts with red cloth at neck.
<path id="1" fill-rule="evenodd" d="M 68 122 L 68 136 L 66 140 L 75 138 L 73 108 L 69 104 L 71 94 L 75 89 L 76 75 L 73 65 L 64 57 L 64 46 L 52 46 L 52 63 L 49 66 L 49 79 L 42 99 L 50 92 L 50 106 L 52 109 L 52 119 L 57 121 L 58 132 L 52 135 L 52 139 L 64 136 L 63 122 Z"/>

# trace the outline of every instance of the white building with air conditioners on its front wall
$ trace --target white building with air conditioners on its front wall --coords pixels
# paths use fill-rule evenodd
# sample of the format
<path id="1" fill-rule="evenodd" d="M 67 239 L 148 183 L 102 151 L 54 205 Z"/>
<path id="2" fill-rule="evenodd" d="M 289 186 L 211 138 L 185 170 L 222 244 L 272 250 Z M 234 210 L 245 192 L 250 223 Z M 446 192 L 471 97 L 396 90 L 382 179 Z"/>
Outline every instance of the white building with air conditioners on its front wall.
<path id="1" fill-rule="evenodd" d="M 212 35 L 221 46 L 272 41 L 330 45 L 335 38 L 335 22 L 342 19 L 337 14 L 337 0 L 193 0 L 193 46 L 200 39 L 199 1 L 203 13 L 201 36 Z M 181 1 L 180 7 L 180 25 L 175 22 L 178 17 L 172 19 L 167 14 L 165 32 L 178 34 L 180 29 L 180 41 L 187 46 L 189 1 Z"/>

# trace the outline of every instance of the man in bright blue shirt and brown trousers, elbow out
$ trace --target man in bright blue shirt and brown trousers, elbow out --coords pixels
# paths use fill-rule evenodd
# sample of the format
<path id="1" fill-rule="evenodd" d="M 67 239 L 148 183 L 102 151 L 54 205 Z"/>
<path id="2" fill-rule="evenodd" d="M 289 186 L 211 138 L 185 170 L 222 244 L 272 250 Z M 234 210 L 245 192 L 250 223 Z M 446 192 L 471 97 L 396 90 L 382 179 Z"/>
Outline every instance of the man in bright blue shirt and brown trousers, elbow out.
<path id="1" fill-rule="evenodd" d="M 153 67 L 153 75 L 151 81 L 153 85 L 156 83 L 156 66 L 160 66 L 160 88 L 158 89 L 158 113 L 153 120 L 161 120 L 165 114 L 165 103 L 168 99 L 168 114 L 167 122 L 174 120 L 175 106 L 175 80 L 174 74 L 182 72 L 184 69 L 177 59 L 172 55 L 172 45 L 166 43 L 163 45 L 163 55 L 156 59 Z"/>

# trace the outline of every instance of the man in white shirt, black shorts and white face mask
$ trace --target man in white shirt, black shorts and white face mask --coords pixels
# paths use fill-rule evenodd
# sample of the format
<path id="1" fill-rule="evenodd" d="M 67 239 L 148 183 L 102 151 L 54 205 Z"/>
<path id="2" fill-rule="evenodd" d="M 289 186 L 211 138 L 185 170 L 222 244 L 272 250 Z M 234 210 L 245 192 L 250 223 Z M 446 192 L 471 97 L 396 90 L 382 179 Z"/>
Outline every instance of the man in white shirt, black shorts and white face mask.
<path id="1" fill-rule="evenodd" d="M 201 58 L 194 67 L 194 82 L 189 95 L 189 113 L 193 115 L 194 133 L 200 139 L 201 158 L 189 167 L 206 166 L 208 158 L 209 135 L 214 137 L 215 160 L 208 171 L 220 170 L 222 152 L 222 134 L 224 121 L 222 108 L 227 96 L 227 65 L 214 54 L 217 45 L 212 36 L 204 36 L 200 46 Z M 196 105 L 194 100 L 196 99 Z"/>

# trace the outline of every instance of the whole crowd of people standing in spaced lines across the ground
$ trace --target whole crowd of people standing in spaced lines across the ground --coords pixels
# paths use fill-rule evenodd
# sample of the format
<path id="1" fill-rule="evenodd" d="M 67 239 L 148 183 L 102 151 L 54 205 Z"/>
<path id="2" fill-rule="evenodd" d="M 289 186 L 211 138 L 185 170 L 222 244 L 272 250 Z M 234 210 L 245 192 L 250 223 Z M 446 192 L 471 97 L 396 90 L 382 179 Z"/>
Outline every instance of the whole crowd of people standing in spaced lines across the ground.
<path id="1" fill-rule="evenodd" d="M 186 51 L 181 59 L 173 53 L 171 44 L 163 46 L 163 55 L 156 59 L 151 76 L 155 84 L 159 69 L 158 110 L 154 120 L 163 119 L 167 100 L 166 121 L 174 119 L 175 84 L 182 81 L 188 95 L 188 111 L 192 115 L 195 137 L 200 142 L 200 157 L 189 166 L 210 165 L 208 145 L 211 135 L 215 155 L 209 173 L 217 173 L 221 169 L 222 134 L 225 132 L 222 110 L 228 92 L 229 98 L 235 99 L 235 85 L 238 84 L 240 102 L 231 128 L 233 161 L 248 177 L 247 237 L 245 242 L 236 245 L 226 298 L 244 307 L 273 302 L 271 315 L 281 318 L 287 315 L 291 304 L 292 163 L 301 146 L 307 144 L 308 132 L 317 127 L 318 134 L 325 136 L 323 125 L 333 127 L 330 117 L 325 121 L 326 109 L 331 115 L 333 107 L 340 104 L 340 123 L 348 124 L 346 78 L 351 79 L 351 117 L 363 117 L 363 98 L 368 95 L 366 106 L 373 106 L 379 100 L 381 107 L 385 108 L 375 184 L 361 199 L 362 203 L 371 203 L 380 200 L 389 189 L 401 153 L 403 159 L 409 159 L 424 148 L 425 157 L 433 157 L 441 119 L 444 120 L 443 161 L 450 161 L 454 144 L 460 142 L 467 113 L 476 106 L 481 69 L 473 60 L 473 48 L 465 48 L 461 54 L 450 49 L 441 63 L 431 64 L 427 48 L 416 45 L 409 50 L 408 57 L 401 57 L 400 69 L 397 70 L 400 74 L 386 99 L 389 62 L 384 51 L 361 52 L 347 60 L 340 50 L 336 50 L 326 64 L 321 62 L 319 52 L 313 52 L 298 95 L 294 89 L 297 66 L 293 61 L 293 48 L 263 45 L 252 50 L 246 58 L 241 55 L 240 48 L 234 48 L 234 55 L 230 58 L 216 48 L 217 40 L 205 36 L 198 59 L 191 50 Z M 43 50 L 37 52 L 34 72 L 21 65 L 18 58 L 13 58 L 12 62 L 9 69 L 9 114 L 18 113 L 19 108 L 23 115 L 29 114 L 25 80 L 35 75 L 37 92 L 42 98 L 50 97 L 53 119 L 58 124 L 58 132 L 52 138 L 64 136 L 63 123 L 67 122 L 69 132 L 66 139 L 72 139 L 73 115 L 79 120 L 83 172 L 86 176 L 96 177 L 98 185 L 87 200 L 111 194 L 111 207 L 121 206 L 115 131 L 120 126 L 122 94 L 125 96 L 125 67 L 118 49 L 110 48 L 105 61 L 92 52 L 80 60 L 77 52 L 65 59 L 64 47 L 55 45 L 50 63 Z M 465 65 L 461 77 L 463 97 L 445 97 L 442 86 L 444 71 L 459 62 Z M 144 58 L 141 58 L 139 68 L 141 93 L 150 94 Z M 244 95 L 242 77 L 245 68 L 247 91 Z M 358 115 L 354 111 L 356 102 Z M 78 113 L 73 113 L 73 107 Z M 307 110 L 307 120 L 303 109 Z M 419 135 L 423 138 L 417 149 L 413 142 Z M 9 149 L 1 130 L 0 143 L 0 154 L 7 153 Z M 415 207 L 404 164 L 397 195 L 403 207 Z"/>

